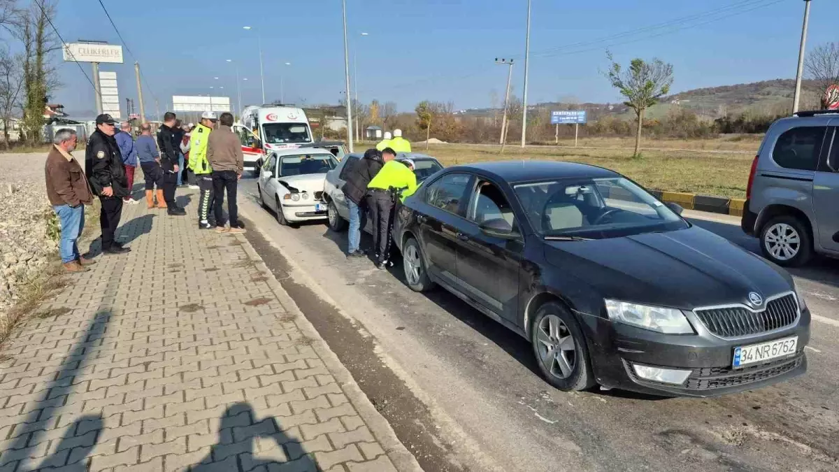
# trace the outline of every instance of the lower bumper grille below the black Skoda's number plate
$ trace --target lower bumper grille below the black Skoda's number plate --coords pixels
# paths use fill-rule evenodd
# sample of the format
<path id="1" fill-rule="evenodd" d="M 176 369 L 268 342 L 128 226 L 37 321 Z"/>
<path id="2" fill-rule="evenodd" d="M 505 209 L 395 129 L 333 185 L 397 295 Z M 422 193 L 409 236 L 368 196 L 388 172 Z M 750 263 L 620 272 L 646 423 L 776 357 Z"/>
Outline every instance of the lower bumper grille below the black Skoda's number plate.
<path id="1" fill-rule="evenodd" d="M 802 362 L 804 362 L 804 355 L 799 350 L 793 358 L 779 359 L 743 369 L 732 367 L 694 369 L 685 382 L 684 388 L 689 390 L 712 390 L 750 384 L 785 374 L 799 367 Z"/>

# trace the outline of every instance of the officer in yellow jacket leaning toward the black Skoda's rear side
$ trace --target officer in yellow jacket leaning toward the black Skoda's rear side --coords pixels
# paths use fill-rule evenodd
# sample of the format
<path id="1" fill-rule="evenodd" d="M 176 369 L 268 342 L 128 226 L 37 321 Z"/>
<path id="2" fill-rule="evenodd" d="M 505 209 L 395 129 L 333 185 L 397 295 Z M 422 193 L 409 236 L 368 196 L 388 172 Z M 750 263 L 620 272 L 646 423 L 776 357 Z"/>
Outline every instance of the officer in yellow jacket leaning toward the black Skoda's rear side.
<path id="1" fill-rule="evenodd" d="M 373 250 L 376 265 L 385 269 L 389 264 L 390 232 L 393 229 L 393 208 L 399 196 L 408 197 L 417 190 L 417 177 L 409 165 L 413 162 L 395 160 L 396 151 L 382 151 L 384 165 L 367 184 L 367 208 L 373 218 Z"/>

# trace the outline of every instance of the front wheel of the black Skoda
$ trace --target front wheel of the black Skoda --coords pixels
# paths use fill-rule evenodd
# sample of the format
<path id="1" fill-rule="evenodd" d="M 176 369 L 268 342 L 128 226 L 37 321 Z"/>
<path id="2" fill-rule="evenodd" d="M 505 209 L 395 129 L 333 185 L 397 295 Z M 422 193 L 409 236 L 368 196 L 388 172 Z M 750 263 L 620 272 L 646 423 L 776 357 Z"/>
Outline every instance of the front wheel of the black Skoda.
<path id="1" fill-rule="evenodd" d="M 561 391 L 583 391 L 595 384 L 586 336 L 576 318 L 560 303 L 547 302 L 539 307 L 530 342 L 536 364 L 550 385 Z"/>

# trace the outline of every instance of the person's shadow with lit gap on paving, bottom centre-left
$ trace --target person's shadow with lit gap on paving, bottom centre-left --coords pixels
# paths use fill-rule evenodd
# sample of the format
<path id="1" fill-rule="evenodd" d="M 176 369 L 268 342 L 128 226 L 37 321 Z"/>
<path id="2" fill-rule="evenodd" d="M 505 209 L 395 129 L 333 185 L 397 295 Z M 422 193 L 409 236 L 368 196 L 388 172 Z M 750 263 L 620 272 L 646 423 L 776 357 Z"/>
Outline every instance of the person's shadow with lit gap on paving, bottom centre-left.
<path id="1" fill-rule="evenodd" d="M 192 472 L 238 470 L 238 464 L 241 464 L 241 470 L 268 464 L 286 464 L 300 471 L 322 470 L 313 455 L 305 452 L 300 441 L 284 432 L 276 418 L 257 421 L 250 403 L 240 401 L 228 406 L 221 415 L 217 435 L 218 443 L 211 446 L 204 459 L 192 466 Z"/>

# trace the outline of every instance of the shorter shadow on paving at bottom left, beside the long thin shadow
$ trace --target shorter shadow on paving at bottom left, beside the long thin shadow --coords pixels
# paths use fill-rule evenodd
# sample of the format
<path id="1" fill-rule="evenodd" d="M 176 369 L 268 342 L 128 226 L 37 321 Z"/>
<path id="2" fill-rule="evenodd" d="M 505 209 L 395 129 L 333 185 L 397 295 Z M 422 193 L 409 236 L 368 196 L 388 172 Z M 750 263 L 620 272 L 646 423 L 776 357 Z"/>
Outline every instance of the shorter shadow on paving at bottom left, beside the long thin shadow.
<path id="1" fill-rule="evenodd" d="M 38 467 L 21 470 L 60 468 L 61 472 L 86 472 L 88 469 L 87 456 L 96 447 L 102 427 L 101 414 L 85 415 L 76 419 L 67 428 L 58 445 L 55 446 L 53 454 L 44 458 Z"/>

